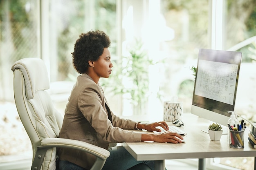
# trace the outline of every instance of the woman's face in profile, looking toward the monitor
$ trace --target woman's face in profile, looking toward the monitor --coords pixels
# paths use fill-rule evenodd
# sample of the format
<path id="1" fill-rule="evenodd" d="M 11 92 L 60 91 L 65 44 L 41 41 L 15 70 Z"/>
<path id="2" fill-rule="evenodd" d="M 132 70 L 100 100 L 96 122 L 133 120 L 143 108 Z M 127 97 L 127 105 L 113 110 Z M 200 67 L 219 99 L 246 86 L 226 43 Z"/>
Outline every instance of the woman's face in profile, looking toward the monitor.
<path id="1" fill-rule="evenodd" d="M 108 78 L 111 74 L 113 64 L 110 61 L 110 51 L 104 48 L 102 55 L 99 59 L 93 62 L 93 70 L 99 77 Z"/>

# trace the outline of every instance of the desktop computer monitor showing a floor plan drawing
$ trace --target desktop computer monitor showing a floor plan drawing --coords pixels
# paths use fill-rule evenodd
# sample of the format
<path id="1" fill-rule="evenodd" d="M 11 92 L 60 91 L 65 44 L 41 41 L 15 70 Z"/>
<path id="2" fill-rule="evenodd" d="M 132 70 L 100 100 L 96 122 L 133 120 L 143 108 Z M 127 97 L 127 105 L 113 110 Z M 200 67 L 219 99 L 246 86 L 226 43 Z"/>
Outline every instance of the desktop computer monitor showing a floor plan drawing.
<path id="1" fill-rule="evenodd" d="M 191 113 L 227 126 L 234 111 L 242 53 L 200 49 Z"/>

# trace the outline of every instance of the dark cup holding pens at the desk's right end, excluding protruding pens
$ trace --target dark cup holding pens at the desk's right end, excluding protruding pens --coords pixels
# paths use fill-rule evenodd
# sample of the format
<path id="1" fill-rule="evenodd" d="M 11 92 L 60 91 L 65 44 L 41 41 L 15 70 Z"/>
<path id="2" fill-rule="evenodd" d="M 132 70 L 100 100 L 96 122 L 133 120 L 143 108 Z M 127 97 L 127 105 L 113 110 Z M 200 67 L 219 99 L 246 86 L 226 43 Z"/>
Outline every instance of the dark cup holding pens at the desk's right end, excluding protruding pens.
<path id="1" fill-rule="evenodd" d="M 245 130 L 229 130 L 229 147 L 244 148 Z"/>

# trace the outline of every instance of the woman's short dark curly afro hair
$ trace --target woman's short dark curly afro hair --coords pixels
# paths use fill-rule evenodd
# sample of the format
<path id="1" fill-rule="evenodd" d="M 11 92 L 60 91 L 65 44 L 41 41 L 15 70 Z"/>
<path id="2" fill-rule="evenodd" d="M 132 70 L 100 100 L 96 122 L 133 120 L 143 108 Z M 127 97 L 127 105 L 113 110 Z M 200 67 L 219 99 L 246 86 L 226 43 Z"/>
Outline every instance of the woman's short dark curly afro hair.
<path id="1" fill-rule="evenodd" d="M 74 44 L 72 62 L 76 71 L 80 74 L 88 70 L 89 61 L 97 61 L 104 48 L 110 47 L 109 36 L 103 31 L 89 31 L 81 33 Z"/>

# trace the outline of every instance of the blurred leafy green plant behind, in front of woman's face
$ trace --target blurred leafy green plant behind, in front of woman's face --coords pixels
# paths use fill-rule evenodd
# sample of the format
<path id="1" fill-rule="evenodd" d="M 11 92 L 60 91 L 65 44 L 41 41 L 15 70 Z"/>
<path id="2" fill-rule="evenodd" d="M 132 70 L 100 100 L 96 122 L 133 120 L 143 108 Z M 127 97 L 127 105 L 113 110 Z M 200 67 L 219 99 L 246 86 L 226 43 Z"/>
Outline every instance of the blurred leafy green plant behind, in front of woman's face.
<path id="1" fill-rule="evenodd" d="M 143 43 L 139 40 L 135 41 L 129 54 L 122 57 L 121 63 L 112 61 L 113 72 L 108 80 L 101 82 L 101 85 L 115 95 L 124 95 L 132 106 L 137 107 L 145 104 L 150 95 L 148 70 L 154 63 L 148 58 Z"/>

